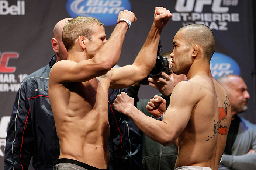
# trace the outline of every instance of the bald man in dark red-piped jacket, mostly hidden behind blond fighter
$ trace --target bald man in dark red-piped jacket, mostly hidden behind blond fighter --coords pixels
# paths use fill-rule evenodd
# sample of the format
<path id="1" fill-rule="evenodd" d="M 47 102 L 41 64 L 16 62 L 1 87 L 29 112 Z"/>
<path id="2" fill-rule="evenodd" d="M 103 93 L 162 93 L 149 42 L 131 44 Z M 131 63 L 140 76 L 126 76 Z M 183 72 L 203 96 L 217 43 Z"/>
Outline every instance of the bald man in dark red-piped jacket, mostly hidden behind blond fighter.
<path id="1" fill-rule="evenodd" d="M 53 29 L 52 48 L 56 54 L 49 64 L 21 82 L 7 131 L 4 170 L 27 170 L 32 156 L 34 169 L 52 170 L 58 160 L 60 147 L 48 98 L 48 79 L 53 64 L 67 59 L 61 34 L 68 19 L 60 20 Z"/>

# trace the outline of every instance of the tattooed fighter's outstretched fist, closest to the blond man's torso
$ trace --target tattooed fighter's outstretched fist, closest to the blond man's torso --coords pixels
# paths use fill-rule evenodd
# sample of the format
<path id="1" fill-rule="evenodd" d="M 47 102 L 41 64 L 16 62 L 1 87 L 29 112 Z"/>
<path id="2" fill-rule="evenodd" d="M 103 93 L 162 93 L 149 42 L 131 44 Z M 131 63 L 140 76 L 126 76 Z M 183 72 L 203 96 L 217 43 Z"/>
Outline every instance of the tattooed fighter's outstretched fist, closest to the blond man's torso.
<path id="1" fill-rule="evenodd" d="M 131 108 L 134 107 L 133 104 L 134 98 L 130 98 L 125 92 L 122 92 L 120 95 L 117 95 L 113 106 L 118 112 L 127 115 L 128 111 L 131 111 Z"/>

